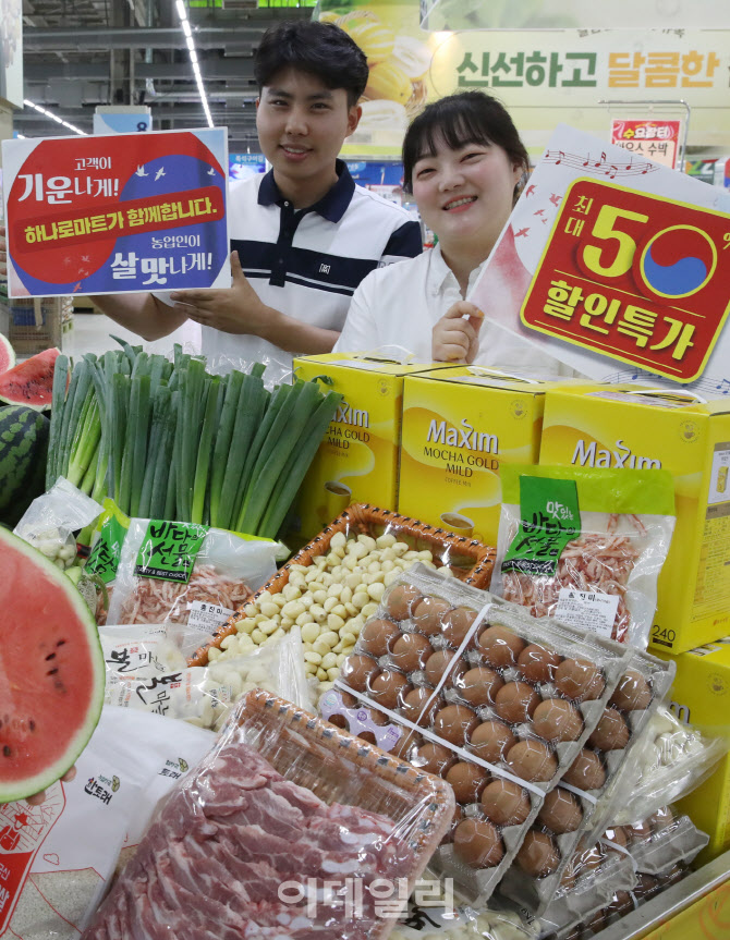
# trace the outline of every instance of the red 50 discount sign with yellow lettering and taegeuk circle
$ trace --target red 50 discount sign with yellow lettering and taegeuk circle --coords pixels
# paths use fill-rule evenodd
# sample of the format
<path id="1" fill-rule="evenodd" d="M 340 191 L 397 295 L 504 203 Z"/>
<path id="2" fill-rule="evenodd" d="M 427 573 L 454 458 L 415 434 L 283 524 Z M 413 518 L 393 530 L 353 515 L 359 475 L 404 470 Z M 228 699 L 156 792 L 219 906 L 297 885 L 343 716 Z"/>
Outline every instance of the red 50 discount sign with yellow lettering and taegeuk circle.
<path id="1" fill-rule="evenodd" d="M 730 310 L 730 217 L 575 180 L 522 306 L 525 326 L 678 382 L 702 375 Z M 730 260 L 730 254 L 728 254 Z"/>

